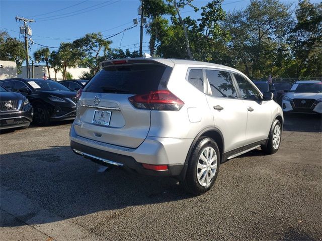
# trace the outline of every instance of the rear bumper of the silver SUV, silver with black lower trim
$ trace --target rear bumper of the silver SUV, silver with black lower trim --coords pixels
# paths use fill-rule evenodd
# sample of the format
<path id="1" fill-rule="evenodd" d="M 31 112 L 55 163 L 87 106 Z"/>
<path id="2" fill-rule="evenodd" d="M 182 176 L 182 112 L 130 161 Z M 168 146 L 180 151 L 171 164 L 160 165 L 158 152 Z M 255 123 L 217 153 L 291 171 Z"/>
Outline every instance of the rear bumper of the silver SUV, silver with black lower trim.
<path id="1" fill-rule="evenodd" d="M 96 163 L 155 176 L 179 176 L 193 141 L 190 139 L 147 137 L 138 148 L 125 148 L 79 137 L 73 126 L 70 129 L 69 139 L 70 147 L 74 153 Z M 142 163 L 168 165 L 168 170 L 144 169 Z"/>

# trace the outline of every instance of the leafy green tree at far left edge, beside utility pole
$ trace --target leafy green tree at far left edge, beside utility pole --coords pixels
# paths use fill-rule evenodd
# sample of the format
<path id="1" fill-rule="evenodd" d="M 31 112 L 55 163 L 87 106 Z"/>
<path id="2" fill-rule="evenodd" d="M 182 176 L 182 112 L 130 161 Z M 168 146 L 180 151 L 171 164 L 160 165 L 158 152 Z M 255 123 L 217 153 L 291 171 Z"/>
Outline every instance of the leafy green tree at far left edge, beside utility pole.
<path id="1" fill-rule="evenodd" d="M 7 32 L 0 31 L 0 60 L 16 61 L 17 73 L 20 74 L 22 62 L 25 59 L 24 43 L 16 38 L 11 38 Z"/>

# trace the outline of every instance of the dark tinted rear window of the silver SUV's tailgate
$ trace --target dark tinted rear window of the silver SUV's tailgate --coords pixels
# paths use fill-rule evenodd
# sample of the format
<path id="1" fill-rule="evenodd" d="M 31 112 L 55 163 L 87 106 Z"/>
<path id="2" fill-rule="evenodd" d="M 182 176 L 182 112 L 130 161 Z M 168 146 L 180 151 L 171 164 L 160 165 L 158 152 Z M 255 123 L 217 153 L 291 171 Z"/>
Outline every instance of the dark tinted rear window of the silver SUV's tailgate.
<path id="1" fill-rule="evenodd" d="M 84 92 L 146 94 L 165 89 L 172 68 L 157 64 L 107 66 L 87 84 Z"/>

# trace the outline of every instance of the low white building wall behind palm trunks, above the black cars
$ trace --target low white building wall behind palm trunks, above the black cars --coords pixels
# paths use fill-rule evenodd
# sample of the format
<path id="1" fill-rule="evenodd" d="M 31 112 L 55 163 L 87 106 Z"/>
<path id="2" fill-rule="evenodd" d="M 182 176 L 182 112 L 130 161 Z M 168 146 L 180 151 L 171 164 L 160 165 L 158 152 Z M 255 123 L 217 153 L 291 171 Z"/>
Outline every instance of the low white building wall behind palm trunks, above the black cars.
<path id="1" fill-rule="evenodd" d="M 54 70 L 52 68 L 49 68 L 49 71 L 50 71 L 50 78 L 52 80 L 55 80 Z M 90 69 L 88 69 L 88 68 L 67 68 L 67 72 L 69 72 L 72 75 L 73 79 L 79 79 L 79 77 L 82 76 L 83 72 L 90 72 Z M 42 79 L 44 76 L 44 73 L 46 74 L 46 77 L 49 78 L 46 66 L 34 64 L 34 78 L 35 79 Z M 23 66 L 22 74 L 19 74 L 18 77 L 27 78 L 26 66 Z M 31 65 L 30 65 L 30 78 L 32 78 L 32 66 Z M 56 80 L 63 80 L 61 71 L 57 72 Z"/>

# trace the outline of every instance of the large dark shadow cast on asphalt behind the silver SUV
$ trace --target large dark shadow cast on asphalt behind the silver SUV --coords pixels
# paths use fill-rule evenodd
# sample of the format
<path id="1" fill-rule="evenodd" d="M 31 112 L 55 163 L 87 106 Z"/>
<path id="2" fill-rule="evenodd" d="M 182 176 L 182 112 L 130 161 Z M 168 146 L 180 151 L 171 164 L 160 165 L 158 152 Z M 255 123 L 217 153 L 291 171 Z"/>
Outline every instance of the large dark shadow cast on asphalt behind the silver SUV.
<path id="1" fill-rule="evenodd" d="M 120 169 L 100 172 L 102 166 L 75 155 L 69 146 L 3 154 L 0 167 L 5 190 L 0 193 L 2 209 L 10 212 L 4 207 L 14 207 L 16 215 L 27 218 L 29 224 L 192 197 L 173 178 L 141 176 Z M 36 218 L 41 211 L 26 203 L 35 203 L 54 215 Z"/>

